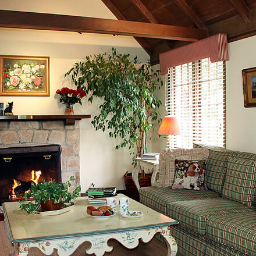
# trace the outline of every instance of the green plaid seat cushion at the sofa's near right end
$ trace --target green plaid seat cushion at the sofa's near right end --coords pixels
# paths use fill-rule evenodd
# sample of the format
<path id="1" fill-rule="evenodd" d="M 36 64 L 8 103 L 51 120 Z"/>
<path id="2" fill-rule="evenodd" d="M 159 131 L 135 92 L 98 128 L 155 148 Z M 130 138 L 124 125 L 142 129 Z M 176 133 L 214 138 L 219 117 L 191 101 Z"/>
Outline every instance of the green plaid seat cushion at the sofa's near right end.
<path id="1" fill-rule="evenodd" d="M 256 212 L 207 219 L 207 236 L 242 253 L 256 255 Z"/>

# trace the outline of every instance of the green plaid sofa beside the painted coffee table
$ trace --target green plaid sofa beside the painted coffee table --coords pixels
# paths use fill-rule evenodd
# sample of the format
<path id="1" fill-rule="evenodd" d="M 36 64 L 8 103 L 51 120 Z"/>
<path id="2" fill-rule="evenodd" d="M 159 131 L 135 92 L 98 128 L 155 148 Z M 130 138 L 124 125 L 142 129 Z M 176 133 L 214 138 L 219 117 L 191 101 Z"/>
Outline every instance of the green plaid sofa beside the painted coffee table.
<path id="1" fill-rule="evenodd" d="M 140 202 L 179 221 L 172 234 L 184 256 L 256 256 L 256 154 L 194 147 L 209 150 L 208 190 L 143 187 Z M 168 154 L 161 152 L 159 170 L 169 168 Z"/>

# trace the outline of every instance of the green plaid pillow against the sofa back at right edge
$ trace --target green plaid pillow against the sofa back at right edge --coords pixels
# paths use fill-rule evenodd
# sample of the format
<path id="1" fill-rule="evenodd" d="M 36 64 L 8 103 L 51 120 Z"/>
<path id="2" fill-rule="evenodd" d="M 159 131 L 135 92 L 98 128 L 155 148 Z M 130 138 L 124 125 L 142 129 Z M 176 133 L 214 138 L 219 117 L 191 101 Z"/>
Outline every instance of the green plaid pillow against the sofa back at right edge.
<path id="1" fill-rule="evenodd" d="M 255 187 L 256 161 L 229 158 L 222 197 L 251 207 Z"/>

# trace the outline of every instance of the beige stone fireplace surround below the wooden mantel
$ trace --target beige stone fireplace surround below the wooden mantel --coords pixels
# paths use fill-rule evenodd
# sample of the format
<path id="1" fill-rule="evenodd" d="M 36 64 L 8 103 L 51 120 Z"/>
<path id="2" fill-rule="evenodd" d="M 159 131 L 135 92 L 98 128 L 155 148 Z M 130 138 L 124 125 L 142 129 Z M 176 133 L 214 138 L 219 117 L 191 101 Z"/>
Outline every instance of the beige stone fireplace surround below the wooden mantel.
<path id="1" fill-rule="evenodd" d="M 80 185 L 79 120 L 65 125 L 63 120 L 2 121 L 0 148 L 30 147 L 33 145 L 61 145 L 61 180 L 76 177 L 71 189 Z"/>

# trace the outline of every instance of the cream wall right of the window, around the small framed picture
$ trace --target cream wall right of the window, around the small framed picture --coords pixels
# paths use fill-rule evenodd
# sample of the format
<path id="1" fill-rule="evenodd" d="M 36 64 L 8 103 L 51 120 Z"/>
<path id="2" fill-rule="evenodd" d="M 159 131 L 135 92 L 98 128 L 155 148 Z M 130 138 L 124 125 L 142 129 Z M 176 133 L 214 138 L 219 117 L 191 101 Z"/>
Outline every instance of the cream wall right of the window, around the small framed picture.
<path id="1" fill-rule="evenodd" d="M 227 148 L 256 153 L 256 108 L 244 108 L 241 70 L 256 66 L 256 36 L 229 43 L 226 62 Z"/>

